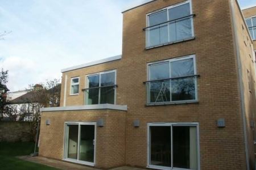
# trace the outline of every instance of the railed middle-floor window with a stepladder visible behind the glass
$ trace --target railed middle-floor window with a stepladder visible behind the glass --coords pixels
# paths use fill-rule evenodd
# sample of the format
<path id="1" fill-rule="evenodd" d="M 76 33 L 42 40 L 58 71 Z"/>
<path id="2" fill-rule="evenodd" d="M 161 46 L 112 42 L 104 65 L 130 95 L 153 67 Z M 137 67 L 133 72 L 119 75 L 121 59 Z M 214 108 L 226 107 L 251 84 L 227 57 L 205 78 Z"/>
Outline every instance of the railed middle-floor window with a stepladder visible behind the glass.
<path id="1" fill-rule="evenodd" d="M 148 64 L 147 103 L 186 103 L 197 100 L 195 56 Z"/>

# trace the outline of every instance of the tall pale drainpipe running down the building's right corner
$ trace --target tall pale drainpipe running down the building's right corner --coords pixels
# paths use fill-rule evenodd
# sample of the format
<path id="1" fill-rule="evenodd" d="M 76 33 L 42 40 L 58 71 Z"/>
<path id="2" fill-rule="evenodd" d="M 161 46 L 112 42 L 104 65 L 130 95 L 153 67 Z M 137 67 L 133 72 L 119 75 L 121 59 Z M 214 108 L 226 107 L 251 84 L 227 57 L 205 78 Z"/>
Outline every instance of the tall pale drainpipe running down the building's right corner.
<path id="1" fill-rule="evenodd" d="M 240 58 L 240 49 L 238 45 L 238 35 L 237 35 L 237 27 L 236 27 L 236 18 L 235 18 L 235 10 L 234 10 L 234 0 L 230 0 L 231 9 L 232 9 L 232 22 L 234 28 L 234 37 L 236 43 L 236 54 L 237 54 L 237 65 L 238 65 L 238 79 L 239 79 L 239 88 L 240 88 L 240 97 L 241 97 L 241 113 L 242 113 L 242 121 L 243 121 L 243 139 L 245 143 L 245 158 L 246 158 L 246 169 L 250 170 L 249 165 L 249 153 L 248 153 L 248 141 L 247 141 L 247 133 L 246 133 L 246 118 L 245 118 L 245 99 L 243 96 L 243 82 L 242 82 L 242 64 Z"/>

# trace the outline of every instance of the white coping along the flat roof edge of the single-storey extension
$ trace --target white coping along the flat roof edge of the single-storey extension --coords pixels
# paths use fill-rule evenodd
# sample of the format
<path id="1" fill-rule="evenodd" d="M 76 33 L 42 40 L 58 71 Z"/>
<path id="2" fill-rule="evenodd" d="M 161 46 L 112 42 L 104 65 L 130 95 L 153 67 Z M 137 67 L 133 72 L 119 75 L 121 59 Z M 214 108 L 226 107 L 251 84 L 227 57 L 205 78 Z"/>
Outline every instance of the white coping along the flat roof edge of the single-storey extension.
<path id="1" fill-rule="evenodd" d="M 54 112 L 54 111 L 83 111 L 83 110 L 98 110 L 98 109 L 112 109 L 112 110 L 118 110 L 118 111 L 127 111 L 127 105 L 115 105 L 115 104 L 77 105 L 77 106 L 69 106 L 69 107 L 40 108 L 40 111 Z"/>

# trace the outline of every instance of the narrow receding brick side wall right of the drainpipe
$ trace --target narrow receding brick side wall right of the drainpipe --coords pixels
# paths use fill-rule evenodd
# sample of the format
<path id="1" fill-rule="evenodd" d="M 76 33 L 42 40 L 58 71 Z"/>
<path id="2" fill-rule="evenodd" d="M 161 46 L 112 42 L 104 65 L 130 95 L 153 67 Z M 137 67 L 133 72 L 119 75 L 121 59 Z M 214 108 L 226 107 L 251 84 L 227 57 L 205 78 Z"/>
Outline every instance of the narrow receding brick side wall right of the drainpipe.
<path id="1" fill-rule="evenodd" d="M 251 128 L 251 121 L 255 121 L 254 115 L 256 111 L 255 100 L 255 67 L 254 67 L 254 54 L 253 54 L 253 41 L 248 39 L 249 32 L 246 29 L 245 20 L 242 18 L 239 6 L 235 4 L 235 18 L 236 18 L 236 30 L 237 30 L 237 48 L 241 58 L 241 76 L 242 76 L 242 93 L 245 105 L 245 118 L 246 118 L 246 133 L 247 133 L 247 145 L 250 156 L 250 167 L 254 169 L 254 129 Z M 255 8 L 256 9 L 256 8 Z M 255 10 L 256 11 L 256 10 Z M 249 73 L 247 73 L 249 71 Z M 249 74 L 249 78 L 248 75 Z M 249 87 L 249 83 L 250 87 Z"/>

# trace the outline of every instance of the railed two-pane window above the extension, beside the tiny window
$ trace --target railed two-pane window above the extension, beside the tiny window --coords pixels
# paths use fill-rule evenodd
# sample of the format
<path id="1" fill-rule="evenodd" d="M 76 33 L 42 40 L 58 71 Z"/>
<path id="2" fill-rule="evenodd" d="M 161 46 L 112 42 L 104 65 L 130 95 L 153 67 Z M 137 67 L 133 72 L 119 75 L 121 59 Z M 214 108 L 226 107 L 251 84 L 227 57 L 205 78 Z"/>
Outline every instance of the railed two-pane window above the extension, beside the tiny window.
<path id="1" fill-rule="evenodd" d="M 116 71 L 88 75 L 85 104 L 115 104 Z"/>

